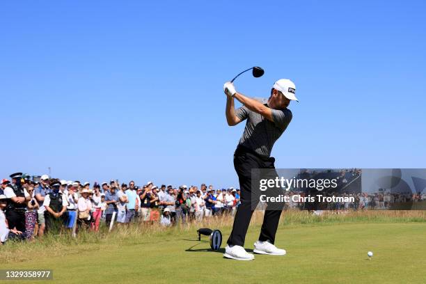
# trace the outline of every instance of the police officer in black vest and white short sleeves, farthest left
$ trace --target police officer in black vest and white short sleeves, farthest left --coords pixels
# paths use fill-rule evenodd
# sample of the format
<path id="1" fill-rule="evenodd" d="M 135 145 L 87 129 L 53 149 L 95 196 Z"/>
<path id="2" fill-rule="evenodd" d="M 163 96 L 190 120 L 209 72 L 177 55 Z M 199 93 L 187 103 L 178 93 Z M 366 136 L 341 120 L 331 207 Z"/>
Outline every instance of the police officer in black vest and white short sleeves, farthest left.
<path id="1" fill-rule="evenodd" d="M 4 195 L 10 198 L 6 207 L 6 219 L 9 228 L 25 232 L 26 204 L 31 200 L 28 192 L 22 187 L 22 173 L 10 175 L 12 182 L 4 189 Z"/>

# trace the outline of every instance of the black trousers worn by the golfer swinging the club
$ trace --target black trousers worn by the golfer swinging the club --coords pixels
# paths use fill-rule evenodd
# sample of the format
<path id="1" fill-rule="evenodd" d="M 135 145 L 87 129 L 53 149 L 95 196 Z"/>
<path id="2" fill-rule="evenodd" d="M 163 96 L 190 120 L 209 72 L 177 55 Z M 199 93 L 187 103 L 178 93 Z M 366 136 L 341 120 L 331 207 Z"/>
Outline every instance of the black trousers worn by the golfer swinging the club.
<path id="1" fill-rule="evenodd" d="M 234 167 L 239 179 L 241 204 L 238 206 L 237 213 L 235 214 L 234 225 L 232 226 L 228 244 L 244 246 L 248 225 L 250 224 L 251 215 L 254 211 L 253 209 L 259 203 L 259 200 L 251 200 L 251 170 L 253 168 L 274 169 L 274 162 L 275 159 L 273 157 L 263 158 L 244 148 L 239 147 L 235 151 Z M 261 242 L 269 241 L 274 244 L 281 212 L 282 210 L 265 210 L 259 236 Z"/>

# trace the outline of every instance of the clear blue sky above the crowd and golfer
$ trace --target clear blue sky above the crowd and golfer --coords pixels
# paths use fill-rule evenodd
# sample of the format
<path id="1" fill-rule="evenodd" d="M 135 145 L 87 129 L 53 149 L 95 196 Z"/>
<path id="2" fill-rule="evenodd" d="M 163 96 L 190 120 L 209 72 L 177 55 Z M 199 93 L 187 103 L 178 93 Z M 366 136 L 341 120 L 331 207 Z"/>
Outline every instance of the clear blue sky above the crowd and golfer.
<path id="1" fill-rule="evenodd" d="M 237 187 L 225 81 L 300 103 L 277 168 L 426 168 L 425 1 L 0 4 L 1 178 Z"/>

